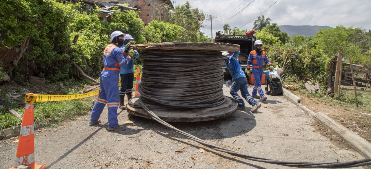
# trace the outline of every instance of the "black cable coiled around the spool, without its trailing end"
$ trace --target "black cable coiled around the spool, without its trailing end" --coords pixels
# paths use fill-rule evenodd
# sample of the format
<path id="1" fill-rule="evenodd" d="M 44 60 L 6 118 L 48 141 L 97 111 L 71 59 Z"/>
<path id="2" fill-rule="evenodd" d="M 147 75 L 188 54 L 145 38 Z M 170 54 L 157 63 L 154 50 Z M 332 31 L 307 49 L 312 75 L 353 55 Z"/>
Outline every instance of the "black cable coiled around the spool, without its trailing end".
<path id="1" fill-rule="evenodd" d="M 207 108 L 226 102 L 221 52 L 150 50 L 141 53 L 141 57 L 142 82 L 138 92 L 144 103 L 169 108 Z"/>

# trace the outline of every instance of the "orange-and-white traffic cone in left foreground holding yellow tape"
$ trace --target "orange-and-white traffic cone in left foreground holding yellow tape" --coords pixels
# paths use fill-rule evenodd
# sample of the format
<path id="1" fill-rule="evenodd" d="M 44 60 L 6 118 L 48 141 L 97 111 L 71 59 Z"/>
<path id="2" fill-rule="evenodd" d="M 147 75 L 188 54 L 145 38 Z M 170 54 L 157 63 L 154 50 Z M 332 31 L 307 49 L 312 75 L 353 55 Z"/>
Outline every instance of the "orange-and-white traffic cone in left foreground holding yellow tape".
<path id="1" fill-rule="evenodd" d="M 31 169 L 45 169 L 46 165 L 35 164 L 35 145 L 34 145 L 34 124 L 33 124 L 33 105 L 35 104 L 36 96 L 32 93 L 26 95 L 24 102 L 26 107 L 24 109 L 22 128 L 19 133 L 19 141 L 16 153 L 16 163 L 14 167 L 9 169 L 17 168 L 20 165 L 30 166 Z"/>

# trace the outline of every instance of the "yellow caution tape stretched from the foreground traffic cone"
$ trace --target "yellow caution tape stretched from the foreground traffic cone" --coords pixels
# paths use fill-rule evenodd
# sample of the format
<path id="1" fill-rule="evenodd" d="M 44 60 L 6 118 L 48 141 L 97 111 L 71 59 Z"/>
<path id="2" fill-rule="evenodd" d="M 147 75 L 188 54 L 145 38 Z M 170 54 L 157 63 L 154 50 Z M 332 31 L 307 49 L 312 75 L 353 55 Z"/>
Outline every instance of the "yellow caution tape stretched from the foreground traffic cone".
<path id="1" fill-rule="evenodd" d="M 137 76 L 137 72 L 134 73 L 134 76 Z M 142 76 L 142 74 L 140 74 Z M 118 82 L 118 85 L 121 85 L 121 80 Z M 63 101 L 63 100 L 73 100 L 81 99 L 85 97 L 95 96 L 99 94 L 99 90 L 95 90 L 89 93 L 83 93 L 78 95 L 37 95 L 37 94 L 26 94 L 24 98 L 24 103 L 35 104 L 35 102 L 54 102 L 54 101 Z"/>

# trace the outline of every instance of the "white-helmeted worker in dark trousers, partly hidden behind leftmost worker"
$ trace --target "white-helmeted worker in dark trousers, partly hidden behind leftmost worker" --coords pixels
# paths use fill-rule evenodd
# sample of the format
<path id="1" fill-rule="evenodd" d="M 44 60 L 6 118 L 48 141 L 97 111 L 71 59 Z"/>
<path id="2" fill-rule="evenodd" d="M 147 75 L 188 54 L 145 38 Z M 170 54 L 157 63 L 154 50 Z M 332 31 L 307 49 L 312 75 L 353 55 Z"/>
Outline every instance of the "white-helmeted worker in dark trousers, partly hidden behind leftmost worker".
<path id="1" fill-rule="evenodd" d="M 124 37 L 124 46 L 121 49 L 124 51 L 124 57 L 128 55 L 128 50 L 132 44 L 135 44 L 133 41 L 134 38 L 131 35 L 126 34 Z M 139 53 L 136 50 L 131 50 L 134 54 L 132 57 L 138 58 Z M 133 81 L 134 81 L 134 59 L 131 59 L 127 66 L 120 68 L 120 77 L 121 77 L 121 87 L 120 87 L 120 109 L 126 109 L 124 104 L 125 95 L 127 96 L 128 100 L 131 99 L 132 96 L 132 88 L 133 88 Z"/>

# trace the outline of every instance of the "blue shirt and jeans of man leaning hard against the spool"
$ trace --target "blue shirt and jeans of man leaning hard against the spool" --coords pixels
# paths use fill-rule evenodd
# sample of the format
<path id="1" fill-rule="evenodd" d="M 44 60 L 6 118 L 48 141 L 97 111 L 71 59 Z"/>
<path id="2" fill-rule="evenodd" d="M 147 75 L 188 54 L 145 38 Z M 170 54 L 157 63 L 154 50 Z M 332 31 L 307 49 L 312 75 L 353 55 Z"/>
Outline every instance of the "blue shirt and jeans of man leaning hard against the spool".
<path id="1" fill-rule="evenodd" d="M 244 108 L 245 102 L 241 99 L 241 97 L 237 94 L 237 91 L 241 91 L 241 95 L 246 101 L 254 106 L 257 104 L 256 100 L 249 94 L 247 91 L 247 78 L 245 73 L 243 72 L 240 64 L 238 63 L 238 54 L 240 52 L 234 52 L 231 57 L 229 57 L 227 63 L 227 69 L 231 73 L 232 76 L 232 86 L 229 90 L 229 93 L 233 96 L 234 99 L 239 100 L 238 107 Z"/>

